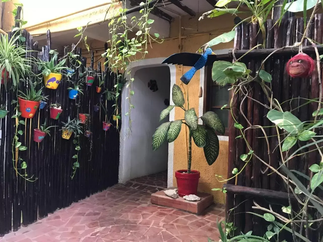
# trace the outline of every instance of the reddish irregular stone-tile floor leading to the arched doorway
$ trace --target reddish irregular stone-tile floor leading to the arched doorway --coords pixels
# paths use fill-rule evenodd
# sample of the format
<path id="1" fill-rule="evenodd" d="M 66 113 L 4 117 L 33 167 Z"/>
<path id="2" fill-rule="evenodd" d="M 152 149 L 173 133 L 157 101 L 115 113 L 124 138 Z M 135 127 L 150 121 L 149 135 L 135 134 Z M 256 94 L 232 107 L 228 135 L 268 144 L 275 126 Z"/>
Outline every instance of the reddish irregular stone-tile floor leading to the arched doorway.
<path id="1" fill-rule="evenodd" d="M 151 193 L 116 185 L 57 210 L 0 242 L 207 242 L 218 239 L 216 220 L 224 209 L 212 206 L 201 216 L 152 205 Z"/>

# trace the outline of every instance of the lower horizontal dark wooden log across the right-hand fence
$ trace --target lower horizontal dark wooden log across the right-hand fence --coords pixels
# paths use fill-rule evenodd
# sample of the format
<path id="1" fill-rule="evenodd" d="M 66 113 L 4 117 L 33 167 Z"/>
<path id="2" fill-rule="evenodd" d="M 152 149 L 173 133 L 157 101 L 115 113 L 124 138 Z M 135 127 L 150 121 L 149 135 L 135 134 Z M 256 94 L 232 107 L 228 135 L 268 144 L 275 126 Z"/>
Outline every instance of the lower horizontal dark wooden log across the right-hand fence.
<path id="1" fill-rule="evenodd" d="M 244 187 L 233 184 L 224 184 L 223 188 L 227 190 L 228 193 L 234 193 L 238 195 L 245 195 L 251 197 L 262 197 L 262 198 L 270 198 L 270 199 L 278 199 L 278 200 L 288 200 L 287 192 L 279 192 L 273 190 L 267 190 L 262 188 L 254 188 L 254 187 Z M 293 194 L 290 194 L 291 199 L 296 199 Z"/>

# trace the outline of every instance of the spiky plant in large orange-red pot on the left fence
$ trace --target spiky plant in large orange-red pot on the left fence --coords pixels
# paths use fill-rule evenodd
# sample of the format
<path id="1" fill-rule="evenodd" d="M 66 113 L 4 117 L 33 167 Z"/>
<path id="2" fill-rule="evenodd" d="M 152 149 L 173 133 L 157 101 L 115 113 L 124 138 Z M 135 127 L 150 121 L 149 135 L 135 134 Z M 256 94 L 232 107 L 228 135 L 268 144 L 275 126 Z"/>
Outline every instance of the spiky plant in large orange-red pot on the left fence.
<path id="1" fill-rule="evenodd" d="M 43 87 L 36 91 L 36 85 L 36 82 L 32 83 L 31 81 L 29 81 L 29 87 L 26 93 L 18 90 L 19 111 L 21 112 L 21 116 L 23 118 L 34 117 L 39 107 L 39 102 L 48 99 L 48 96 L 43 96 L 41 94 Z"/>

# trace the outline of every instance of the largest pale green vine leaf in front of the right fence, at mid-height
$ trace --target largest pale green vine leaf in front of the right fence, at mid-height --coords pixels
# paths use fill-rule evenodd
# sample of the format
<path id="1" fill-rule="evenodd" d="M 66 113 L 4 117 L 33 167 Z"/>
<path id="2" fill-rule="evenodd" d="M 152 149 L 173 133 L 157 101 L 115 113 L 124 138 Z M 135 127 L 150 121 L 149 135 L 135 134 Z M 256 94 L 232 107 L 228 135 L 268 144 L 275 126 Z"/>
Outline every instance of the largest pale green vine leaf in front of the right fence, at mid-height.
<path id="1" fill-rule="evenodd" d="M 283 113 L 273 109 L 267 113 L 267 118 L 280 129 L 283 128 L 291 133 L 291 135 L 296 135 L 297 131 L 301 130 L 304 126 L 296 116 L 288 111 Z"/>

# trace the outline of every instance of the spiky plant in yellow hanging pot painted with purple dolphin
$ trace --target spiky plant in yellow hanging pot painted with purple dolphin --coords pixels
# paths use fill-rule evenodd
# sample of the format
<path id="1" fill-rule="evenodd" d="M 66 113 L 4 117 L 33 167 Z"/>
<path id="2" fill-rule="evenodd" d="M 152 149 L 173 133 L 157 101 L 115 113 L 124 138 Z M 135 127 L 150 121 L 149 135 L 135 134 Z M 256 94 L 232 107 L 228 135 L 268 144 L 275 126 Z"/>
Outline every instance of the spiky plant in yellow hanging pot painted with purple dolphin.
<path id="1" fill-rule="evenodd" d="M 44 85 L 50 89 L 57 89 L 59 82 L 62 79 L 62 74 L 59 73 L 63 69 L 68 69 L 67 66 L 64 66 L 66 59 L 63 59 L 55 65 L 57 61 L 57 52 L 54 52 L 50 61 L 39 60 L 38 70 L 42 71 L 44 76 Z"/>

